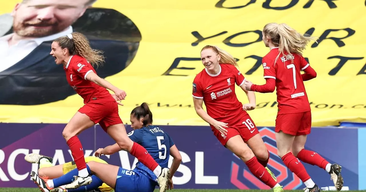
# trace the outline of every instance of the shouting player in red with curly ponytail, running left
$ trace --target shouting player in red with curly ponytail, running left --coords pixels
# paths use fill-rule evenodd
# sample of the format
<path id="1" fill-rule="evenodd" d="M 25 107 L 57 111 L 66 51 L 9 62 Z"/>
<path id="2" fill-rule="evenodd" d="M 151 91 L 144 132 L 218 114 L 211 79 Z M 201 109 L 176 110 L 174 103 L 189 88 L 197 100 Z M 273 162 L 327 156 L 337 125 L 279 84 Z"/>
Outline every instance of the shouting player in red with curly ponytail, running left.
<path id="1" fill-rule="evenodd" d="M 126 92 L 100 78 L 92 66 L 104 62 L 101 52 L 91 49 L 88 39 L 77 32 L 55 39 L 51 48 L 50 54 L 55 57 L 56 64 L 64 65 L 67 82 L 84 99 L 85 104 L 62 132 L 79 170 L 78 177 L 66 188 L 78 188 L 91 182 L 86 169 L 83 147 L 77 135 L 99 123 L 122 150 L 134 155 L 156 174 L 160 191 L 165 192 L 168 187 L 169 169 L 160 167 L 145 148 L 128 138 L 118 115 L 117 103 L 122 104 L 119 101 L 126 97 Z M 107 89 L 112 90 L 115 95 L 112 96 Z M 34 157 L 28 160 L 36 162 L 38 159 Z"/>

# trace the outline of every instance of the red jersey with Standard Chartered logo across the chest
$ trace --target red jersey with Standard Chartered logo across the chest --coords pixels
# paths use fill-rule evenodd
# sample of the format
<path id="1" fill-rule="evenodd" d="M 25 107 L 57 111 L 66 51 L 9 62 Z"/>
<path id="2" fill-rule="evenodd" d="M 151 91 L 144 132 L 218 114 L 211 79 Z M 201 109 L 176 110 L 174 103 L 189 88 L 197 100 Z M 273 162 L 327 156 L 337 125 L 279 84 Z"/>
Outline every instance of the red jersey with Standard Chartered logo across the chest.
<path id="1" fill-rule="evenodd" d="M 203 99 L 209 116 L 231 125 L 247 114 L 236 97 L 235 84 L 244 84 L 244 76 L 234 65 L 220 64 L 216 75 L 205 68 L 194 78 L 193 97 Z"/>

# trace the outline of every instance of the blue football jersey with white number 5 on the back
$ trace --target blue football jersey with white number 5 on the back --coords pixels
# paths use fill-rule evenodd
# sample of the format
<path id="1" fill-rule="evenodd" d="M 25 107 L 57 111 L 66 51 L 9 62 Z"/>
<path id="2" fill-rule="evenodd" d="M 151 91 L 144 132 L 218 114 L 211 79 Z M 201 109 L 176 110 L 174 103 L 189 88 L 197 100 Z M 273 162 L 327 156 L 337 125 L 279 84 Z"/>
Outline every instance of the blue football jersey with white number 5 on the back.
<path id="1" fill-rule="evenodd" d="M 156 125 L 148 125 L 133 130 L 127 135 L 132 141 L 144 147 L 161 167 L 168 167 L 170 147 L 174 145 L 174 142 L 162 128 Z M 150 179 L 157 181 L 155 174 L 140 162 L 136 163 L 134 171 L 143 173 Z"/>

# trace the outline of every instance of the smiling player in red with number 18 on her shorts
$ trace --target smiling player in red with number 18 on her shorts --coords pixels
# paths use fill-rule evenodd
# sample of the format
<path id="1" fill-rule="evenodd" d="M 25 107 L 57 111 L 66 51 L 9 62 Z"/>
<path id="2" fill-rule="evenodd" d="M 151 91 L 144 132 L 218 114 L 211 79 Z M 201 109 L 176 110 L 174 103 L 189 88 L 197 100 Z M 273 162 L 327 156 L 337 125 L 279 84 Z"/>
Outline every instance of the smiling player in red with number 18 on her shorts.
<path id="1" fill-rule="evenodd" d="M 193 102 L 198 116 L 210 124 L 221 144 L 242 159 L 255 177 L 273 191 L 283 192 L 275 175 L 266 167 L 269 152 L 246 112 L 255 109 L 255 95 L 244 88 L 244 76 L 235 67 L 238 64 L 234 57 L 207 45 L 201 50 L 201 60 L 205 69 L 193 81 Z M 239 102 L 235 84 L 245 91 L 249 104 Z M 202 108 L 203 102 L 207 113 Z"/>

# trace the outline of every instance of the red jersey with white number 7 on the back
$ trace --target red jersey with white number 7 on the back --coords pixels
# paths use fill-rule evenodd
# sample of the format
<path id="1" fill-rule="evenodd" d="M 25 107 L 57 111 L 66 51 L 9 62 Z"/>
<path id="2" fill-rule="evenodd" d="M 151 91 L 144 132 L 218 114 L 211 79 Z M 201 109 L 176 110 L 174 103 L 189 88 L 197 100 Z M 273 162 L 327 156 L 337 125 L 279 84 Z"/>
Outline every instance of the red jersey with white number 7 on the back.
<path id="1" fill-rule="evenodd" d="M 276 79 L 278 114 L 310 111 L 309 99 L 305 91 L 300 70 L 309 67 L 309 63 L 299 54 L 279 54 L 278 48 L 270 50 L 262 59 L 264 78 Z M 293 59 L 293 63 L 291 62 Z"/>

